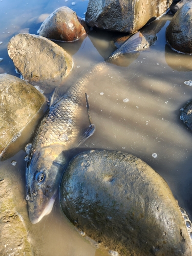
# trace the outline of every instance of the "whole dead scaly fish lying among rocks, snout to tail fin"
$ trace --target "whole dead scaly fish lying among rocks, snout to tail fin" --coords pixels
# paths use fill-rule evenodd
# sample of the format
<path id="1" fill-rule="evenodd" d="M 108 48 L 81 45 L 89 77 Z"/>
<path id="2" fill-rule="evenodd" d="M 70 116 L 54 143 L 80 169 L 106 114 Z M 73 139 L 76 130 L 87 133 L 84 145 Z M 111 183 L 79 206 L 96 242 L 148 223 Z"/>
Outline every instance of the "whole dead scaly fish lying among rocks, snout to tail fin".
<path id="1" fill-rule="evenodd" d="M 33 224 L 50 214 L 58 195 L 62 175 L 70 160 L 70 150 L 81 145 L 95 132 L 87 97 L 90 125 L 83 131 L 80 128 L 85 105 L 82 95 L 89 86 L 89 81 L 99 74 L 108 62 L 119 56 L 141 51 L 143 48 L 142 36 L 137 32 L 105 61 L 98 63 L 91 72 L 78 79 L 59 100 L 57 90 L 53 93 L 49 109 L 33 139 L 26 165 L 26 200 L 29 219 Z"/>

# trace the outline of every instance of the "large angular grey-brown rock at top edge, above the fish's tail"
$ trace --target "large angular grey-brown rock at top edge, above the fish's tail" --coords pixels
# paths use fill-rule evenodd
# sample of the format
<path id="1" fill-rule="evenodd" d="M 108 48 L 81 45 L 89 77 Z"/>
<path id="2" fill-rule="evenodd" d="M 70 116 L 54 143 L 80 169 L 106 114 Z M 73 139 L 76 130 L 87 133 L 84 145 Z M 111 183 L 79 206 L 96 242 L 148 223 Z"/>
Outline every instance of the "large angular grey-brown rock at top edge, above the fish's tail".
<path id="1" fill-rule="evenodd" d="M 129 32 L 142 28 L 148 22 L 161 16 L 172 0 L 90 0 L 86 13 L 86 22 L 91 27 L 101 29 Z"/>

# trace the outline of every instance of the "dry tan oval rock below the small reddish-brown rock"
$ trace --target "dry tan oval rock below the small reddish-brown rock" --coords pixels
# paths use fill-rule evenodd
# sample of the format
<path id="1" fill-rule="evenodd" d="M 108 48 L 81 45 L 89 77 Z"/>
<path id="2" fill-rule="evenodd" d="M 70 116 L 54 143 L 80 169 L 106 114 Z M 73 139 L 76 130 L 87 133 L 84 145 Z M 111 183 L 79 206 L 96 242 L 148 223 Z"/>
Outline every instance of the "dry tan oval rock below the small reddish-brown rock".
<path id="1" fill-rule="evenodd" d="M 15 68 L 32 84 L 60 83 L 70 73 L 72 57 L 51 40 L 37 35 L 17 34 L 8 43 Z"/>

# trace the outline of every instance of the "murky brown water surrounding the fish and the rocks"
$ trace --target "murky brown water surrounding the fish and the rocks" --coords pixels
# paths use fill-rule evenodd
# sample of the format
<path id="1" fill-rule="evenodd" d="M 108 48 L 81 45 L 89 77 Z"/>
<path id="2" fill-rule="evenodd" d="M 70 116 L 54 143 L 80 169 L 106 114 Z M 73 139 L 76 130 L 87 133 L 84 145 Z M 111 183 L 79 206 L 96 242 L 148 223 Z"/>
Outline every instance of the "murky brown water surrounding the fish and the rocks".
<path id="1" fill-rule="evenodd" d="M 63 5 L 84 17 L 88 1 L 0 1 L 0 41 L 3 42 L 0 58 L 4 59 L 0 62 L 0 73 L 18 76 L 7 54 L 10 38 L 20 32 L 36 33 L 46 16 L 40 15 Z M 157 34 L 155 45 L 132 56 L 127 61 L 129 66 L 108 65 L 90 81 L 86 92 L 96 132 L 72 156 L 90 148 L 106 148 L 141 158 L 167 181 L 179 205 L 192 219 L 192 133 L 179 118 L 180 109 L 192 98 L 192 87 L 184 84 L 185 80 L 192 79 L 192 56 L 173 52 L 166 45 L 165 29 L 170 18 L 163 17 L 164 26 Z M 83 41 L 59 44 L 74 59 L 71 78 L 60 89 L 61 93 L 90 70 L 91 65 L 103 61 L 103 57 L 114 50 L 105 37 L 102 39 L 102 33 L 92 32 Z M 82 125 L 87 122 L 85 109 Z M 0 162 L 0 178 L 14 180 L 17 210 L 27 223 L 34 255 L 103 255 L 70 224 L 62 214 L 58 200 L 50 215 L 35 225 L 30 223 L 25 200 L 24 147 L 32 140 L 35 127 L 35 122 L 29 125 L 14 145 L 12 155 Z M 11 164 L 12 160 L 17 162 L 15 166 Z"/>

